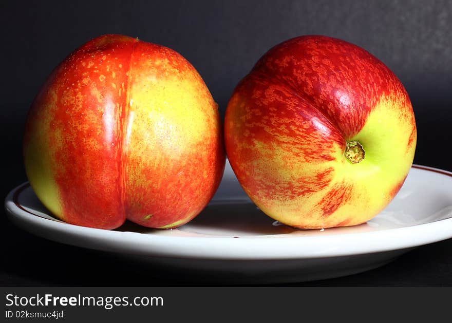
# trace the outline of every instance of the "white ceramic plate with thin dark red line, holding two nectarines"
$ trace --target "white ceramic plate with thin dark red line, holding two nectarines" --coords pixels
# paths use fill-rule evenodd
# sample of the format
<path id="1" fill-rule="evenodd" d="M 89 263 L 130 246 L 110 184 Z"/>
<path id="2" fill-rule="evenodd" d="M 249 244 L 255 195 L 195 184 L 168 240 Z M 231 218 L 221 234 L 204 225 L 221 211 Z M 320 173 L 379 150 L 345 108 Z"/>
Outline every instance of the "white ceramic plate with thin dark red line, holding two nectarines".
<path id="1" fill-rule="evenodd" d="M 7 196 L 10 219 L 37 236 L 112 252 L 185 277 L 218 283 L 277 283 L 331 278 L 379 267 L 410 249 L 452 237 L 452 173 L 418 166 L 399 194 L 365 224 L 295 230 L 263 214 L 227 163 L 211 203 L 174 230 L 126 222 L 114 231 L 52 217 L 28 183 Z"/>

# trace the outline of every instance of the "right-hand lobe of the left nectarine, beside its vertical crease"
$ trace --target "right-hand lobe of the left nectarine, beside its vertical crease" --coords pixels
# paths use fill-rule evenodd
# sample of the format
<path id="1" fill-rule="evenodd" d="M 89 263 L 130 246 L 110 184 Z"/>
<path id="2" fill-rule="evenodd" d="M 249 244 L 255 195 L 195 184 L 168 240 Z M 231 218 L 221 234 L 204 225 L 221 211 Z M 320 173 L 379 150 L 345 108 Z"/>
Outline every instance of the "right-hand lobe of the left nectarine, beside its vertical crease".
<path id="1" fill-rule="evenodd" d="M 166 229 L 199 213 L 202 194 L 190 198 L 193 185 L 183 178 L 209 181 L 212 165 L 206 163 L 213 152 L 208 147 L 217 140 L 212 134 L 219 133 L 220 123 L 217 105 L 191 65 L 176 54 L 149 55 L 133 55 L 129 71 L 133 79 L 123 135 L 126 216 L 133 221 L 134 214 L 152 212 L 149 221 Z M 162 218 L 163 209 L 179 214 L 168 218 L 174 223 Z"/>

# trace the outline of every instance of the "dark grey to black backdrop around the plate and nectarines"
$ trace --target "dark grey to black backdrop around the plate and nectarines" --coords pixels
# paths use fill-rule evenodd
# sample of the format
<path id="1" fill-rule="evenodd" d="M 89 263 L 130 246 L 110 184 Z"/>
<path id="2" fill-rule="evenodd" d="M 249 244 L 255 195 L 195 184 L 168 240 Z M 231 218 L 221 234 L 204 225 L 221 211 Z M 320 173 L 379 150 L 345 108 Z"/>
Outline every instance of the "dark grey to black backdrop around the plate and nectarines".
<path id="1" fill-rule="evenodd" d="M 69 52 L 105 33 L 137 36 L 180 52 L 203 77 L 222 116 L 237 82 L 270 47 L 303 34 L 352 42 L 382 60 L 405 85 L 418 125 L 415 163 L 452 170 L 450 1 L 3 1 L 0 24 L 3 196 L 26 180 L 21 141 L 34 95 Z M 142 278 L 135 272 L 131 275 L 123 264 L 106 277 L 101 275 L 101 264 L 78 278 L 51 273 L 51 268 L 61 264 L 70 270 L 81 257 L 96 261 L 102 256 L 32 237 L 4 216 L 1 223 L 3 246 L 9 248 L 3 249 L 7 261 L 0 284 L 114 284 L 109 279 L 117 276 L 123 277 L 121 284 L 134 284 Z M 452 242 L 447 240 L 420 248 L 379 270 L 317 283 L 452 286 L 451 248 Z M 421 263 L 416 260 L 419 255 Z M 41 256 L 48 259 L 40 262 L 44 267 L 28 271 Z M 105 268 L 111 265 L 109 260 L 103 261 Z M 413 271 L 414 276 L 409 276 Z M 153 275 L 147 279 L 149 284 L 177 281 L 155 278 L 160 272 Z M 374 276 L 369 275 L 378 278 L 370 282 L 369 277 Z"/>

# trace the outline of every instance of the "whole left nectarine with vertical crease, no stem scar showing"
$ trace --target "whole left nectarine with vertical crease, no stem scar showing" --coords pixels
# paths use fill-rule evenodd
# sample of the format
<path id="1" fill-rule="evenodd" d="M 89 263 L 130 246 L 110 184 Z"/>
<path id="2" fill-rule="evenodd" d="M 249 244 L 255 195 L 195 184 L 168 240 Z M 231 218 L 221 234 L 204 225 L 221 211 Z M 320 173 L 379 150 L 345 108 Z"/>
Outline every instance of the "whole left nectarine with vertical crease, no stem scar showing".
<path id="1" fill-rule="evenodd" d="M 37 94 L 24 160 L 58 218 L 114 229 L 172 228 L 214 195 L 225 155 L 218 106 L 172 49 L 123 35 L 72 52 Z"/>

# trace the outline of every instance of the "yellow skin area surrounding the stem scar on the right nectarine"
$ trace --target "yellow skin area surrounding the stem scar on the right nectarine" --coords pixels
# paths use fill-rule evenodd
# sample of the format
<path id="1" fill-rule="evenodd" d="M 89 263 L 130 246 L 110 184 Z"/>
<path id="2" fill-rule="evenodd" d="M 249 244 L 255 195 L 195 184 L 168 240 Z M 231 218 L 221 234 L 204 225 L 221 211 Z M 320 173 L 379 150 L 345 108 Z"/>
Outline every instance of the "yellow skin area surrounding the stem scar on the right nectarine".
<path id="1" fill-rule="evenodd" d="M 333 153 L 335 160 L 307 163 L 274 143 L 269 147 L 267 143 L 256 143 L 262 156 L 268 155 L 268 158 L 253 162 L 255 176 L 259 177 L 260 172 L 274 172 L 281 183 L 296 182 L 300 178 L 314 180 L 316 174 L 332 168 L 332 180 L 321 191 L 295 198 L 289 198 L 282 191 L 277 196 L 264 198 L 264 192 L 253 194 L 246 185 L 243 185 L 244 190 L 263 212 L 288 225 L 321 229 L 366 222 L 389 203 L 411 167 L 416 148 L 416 124 L 411 108 L 405 104 L 402 97 L 383 96 L 361 131 L 353 138 L 345 138 L 348 143 L 358 142 L 365 151 L 364 159 L 355 164 L 346 158 L 340 145 L 336 145 Z M 415 137 L 410 141 L 413 129 Z M 293 166 L 288 168 L 287 165 Z M 279 191 L 278 187 L 275 189 Z M 333 190 L 350 198 L 324 216 L 321 206 L 337 198 L 328 195 Z"/>

